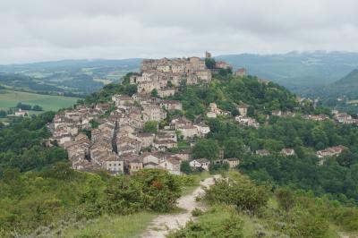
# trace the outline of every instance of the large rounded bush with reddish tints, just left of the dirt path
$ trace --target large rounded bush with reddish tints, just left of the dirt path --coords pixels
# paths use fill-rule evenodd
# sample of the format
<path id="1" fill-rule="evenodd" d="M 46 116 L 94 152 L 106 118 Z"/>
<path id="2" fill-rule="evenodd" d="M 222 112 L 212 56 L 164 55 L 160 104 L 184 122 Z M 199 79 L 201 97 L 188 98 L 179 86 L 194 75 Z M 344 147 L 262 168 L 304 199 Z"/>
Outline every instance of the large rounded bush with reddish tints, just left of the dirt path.
<path id="1" fill-rule="evenodd" d="M 132 177 L 113 178 L 105 190 L 104 206 L 109 213 L 130 214 L 141 209 L 165 212 L 175 207 L 181 183 L 161 169 L 138 171 Z"/>

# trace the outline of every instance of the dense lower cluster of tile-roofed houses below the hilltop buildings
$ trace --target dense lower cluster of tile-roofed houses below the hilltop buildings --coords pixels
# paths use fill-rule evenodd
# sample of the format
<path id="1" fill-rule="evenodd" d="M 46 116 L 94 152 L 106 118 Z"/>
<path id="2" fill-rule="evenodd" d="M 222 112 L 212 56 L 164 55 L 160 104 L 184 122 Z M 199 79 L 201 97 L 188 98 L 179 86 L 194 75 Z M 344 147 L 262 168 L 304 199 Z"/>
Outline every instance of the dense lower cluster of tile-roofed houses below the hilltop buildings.
<path id="1" fill-rule="evenodd" d="M 177 148 L 178 140 L 204 137 L 209 126 L 178 116 L 163 130 L 143 132 L 147 122 L 159 123 L 175 110 L 182 110 L 181 102 L 148 94 L 115 95 L 111 103 L 59 113 L 48 128 L 51 140 L 67 150 L 74 169 L 132 174 L 143 168 L 163 168 L 180 174 L 180 165 L 190 159 L 190 152 L 168 150 Z"/>

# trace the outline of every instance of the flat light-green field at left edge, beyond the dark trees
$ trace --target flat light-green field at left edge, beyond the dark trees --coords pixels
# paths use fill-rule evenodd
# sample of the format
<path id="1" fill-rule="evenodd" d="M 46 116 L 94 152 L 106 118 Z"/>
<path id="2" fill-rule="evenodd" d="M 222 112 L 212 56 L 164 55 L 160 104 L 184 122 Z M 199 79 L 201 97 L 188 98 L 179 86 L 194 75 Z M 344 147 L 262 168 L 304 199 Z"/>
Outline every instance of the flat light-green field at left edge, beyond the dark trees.
<path id="1" fill-rule="evenodd" d="M 63 107 L 72 106 L 76 103 L 77 99 L 78 98 L 5 90 L 0 92 L 0 108 L 6 109 L 14 107 L 21 102 L 31 106 L 42 106 L 45 111 L 56 111 Z"/>

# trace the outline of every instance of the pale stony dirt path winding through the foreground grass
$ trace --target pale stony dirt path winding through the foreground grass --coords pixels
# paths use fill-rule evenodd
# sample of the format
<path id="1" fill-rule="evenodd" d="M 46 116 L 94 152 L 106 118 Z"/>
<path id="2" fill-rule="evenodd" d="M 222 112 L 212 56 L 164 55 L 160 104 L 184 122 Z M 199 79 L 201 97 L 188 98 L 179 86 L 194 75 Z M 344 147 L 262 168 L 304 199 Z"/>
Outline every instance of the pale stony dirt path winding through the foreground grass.
<path id="1" fill-rule="evenodd" d="M 166 237 L 166 234 L 170 230 L 179 228 L 180 226 L 185 225 L 188 221 L 192 219 L 192 210 L 194 208 L 203 209 L 202 204 L 196 201 L 195 198 L 202 194 L 204 191 L 201 186 L 209 187 L 214 183 L 214 178 L 210 177 L 200 182 L 200 187 L 198 187 L 191 194 L 183 196 L 178 200 L 178 208 L 183 208 L 185 211 L 179 214 L 168 214 L 160 215 L 156 217 L 144 234 L 141 235 L 142 238 L 160 238 Z"/>

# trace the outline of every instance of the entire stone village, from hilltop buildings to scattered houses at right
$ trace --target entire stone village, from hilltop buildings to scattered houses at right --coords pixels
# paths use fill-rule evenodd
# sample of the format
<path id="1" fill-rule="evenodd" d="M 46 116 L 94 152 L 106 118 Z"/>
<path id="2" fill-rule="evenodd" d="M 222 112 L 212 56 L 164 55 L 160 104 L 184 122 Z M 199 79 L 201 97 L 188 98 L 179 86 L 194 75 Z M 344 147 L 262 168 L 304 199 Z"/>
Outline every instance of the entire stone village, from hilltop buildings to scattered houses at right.
<path id="1" fill-rule="evenodd" d="M 210 59 L 207 52 L 205 59 Z M 205 85 L 212 80 L 212 74 L 220 70 L 232 70 L 225 62 L 216 62 L 210 67 L 200 57 L 177 59 L 148 59 L 141 64 L 141 73 L 132 73 L 127 83 L 135 84 L 137 93 L 132 96 L 114 95 L 111 102 L 96 103 L 90 106 L 79 105 L 55 115 L 53 123 L 48 125 L 52 132 L 52 141 L 67 150 L 72 168 L 83 171 L 105 169 L 113 174 L 132 174 L 143 168 L 163 168 L 172 174 L 181 174 L 183 161 L 190 166 L 209 169 L 209 159 L 192 159 L 191 147 L 195 141 L 204 138 L 209 126 L 204 120 L 193 123 L 183 115 L 172 118 L 166 126 L 160 126 L 162 120 L 172 112 L 183 110 L 182 102 L 169 100 L 183 81 L 187 85 Z M 234 72 L 237 77 L 246 75 L 244 68 Z M 268 81 L 259 80 L 268 84 Z M 299 103 L 304 99 L 297 98 Z M 237 105 L 238 115 L 234 120 L 243 126 L 260 127 L 255 118 L 248 116 L 250 105 Z M 337 123 L 358 123 L 350 115 L 333 112 Z M 272 111 L 272 116 L 294 117 L 295 112 Z M 220 109 L 215 102 L 209 103 L 207 118 L 231 116 Z M 302 115 L 303 119 L 330 120 L 327 115 Z M 267 119 L 269 115 L 267 115 Z M 189 145 L 178 149 L 178 144 Z M 339 155 L 345 147 L 337 146 L 317 151 L 320 163 L 325 157 Z M 268 156 L 267 149 L 254 151 L 258 156 Z M 282 149 L 286 156 L 294 155 L 294 149 Z M 212 162 L 227 163 L 234 167 L 239 158 L 224 158 L 224 152 Z"/>

